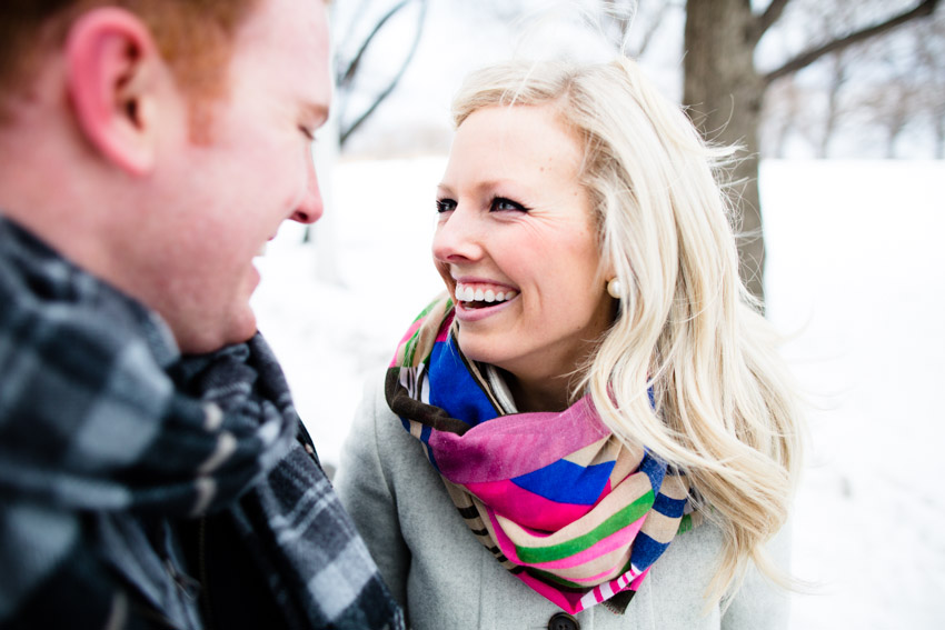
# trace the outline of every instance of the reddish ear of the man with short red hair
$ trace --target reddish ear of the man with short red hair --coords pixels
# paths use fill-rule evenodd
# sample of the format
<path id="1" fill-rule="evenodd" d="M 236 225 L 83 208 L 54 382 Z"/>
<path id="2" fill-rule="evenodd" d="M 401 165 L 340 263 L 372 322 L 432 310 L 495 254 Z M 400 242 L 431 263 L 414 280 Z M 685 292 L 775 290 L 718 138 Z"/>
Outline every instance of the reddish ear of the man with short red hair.
<path id="1" fill-rule="evenodd" d="M 68 90 L 79 128 L 107 160 L 132 174 L 153 166 L 163 61 L 133 13 L 93 9 L 69 30 Z"/>

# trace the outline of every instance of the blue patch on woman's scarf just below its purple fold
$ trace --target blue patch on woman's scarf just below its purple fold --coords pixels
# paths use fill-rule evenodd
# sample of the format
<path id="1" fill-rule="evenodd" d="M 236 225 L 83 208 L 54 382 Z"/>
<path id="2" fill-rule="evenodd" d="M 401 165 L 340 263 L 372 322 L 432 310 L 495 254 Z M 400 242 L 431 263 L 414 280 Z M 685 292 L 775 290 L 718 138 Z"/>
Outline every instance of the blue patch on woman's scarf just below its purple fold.
<path id="1" fill-rule="evenodd" d="M 593 506 L 614 470 L 613 461 L 589 466 L 558 460 L 534 472 L 511 479 L 511 482 L 545 499 L 558 503 Z"/>

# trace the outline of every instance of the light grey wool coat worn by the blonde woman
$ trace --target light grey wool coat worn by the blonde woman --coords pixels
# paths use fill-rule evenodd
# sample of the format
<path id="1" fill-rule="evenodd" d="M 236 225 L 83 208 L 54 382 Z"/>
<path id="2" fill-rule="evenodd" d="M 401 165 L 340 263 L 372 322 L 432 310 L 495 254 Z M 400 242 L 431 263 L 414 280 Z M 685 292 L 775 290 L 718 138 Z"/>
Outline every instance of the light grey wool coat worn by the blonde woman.
<path id="1" fill-rule="evenodd" d="M 560 612 L 503 569 L 472 537 L 420 443 L 388 409 L 380 376 L 367 388 L 355 418 L 336 488 L 414 630 L 538 630 L 549 628 Z M 783 533 L 772 543 L 779 561 L 788 553 L 786 539 Z M 597 606 L 576 616 L 579 628 L 787 628 L 788 596 L 754 569 L 724 613 L 718 604 L 706 608 L 720 549 L 722 532 L 715 526 L 680 534 L 650 569 L 625 614 Z"/>

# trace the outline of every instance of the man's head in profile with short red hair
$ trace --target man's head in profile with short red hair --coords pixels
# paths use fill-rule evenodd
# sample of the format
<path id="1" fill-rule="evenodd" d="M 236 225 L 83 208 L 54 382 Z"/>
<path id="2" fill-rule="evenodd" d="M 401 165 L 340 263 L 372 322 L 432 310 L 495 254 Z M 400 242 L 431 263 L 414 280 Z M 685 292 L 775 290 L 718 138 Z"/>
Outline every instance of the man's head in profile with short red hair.
<path id="1" fill-rule="evenodd" d="M 311 162 L 330 99 L 322 3 L 76 4 L 54 43 L 0 76 L 19 88 L 0 122 L 0 209 L 156 309 L 183 351 L 249 338 L 253 256 L 285 219 L 322 211 Z M 200 9 L 158 17 L 171 4 Z M 198 13 L 215 42 L 187 39 L 202 33 L 185 23 Z"/>

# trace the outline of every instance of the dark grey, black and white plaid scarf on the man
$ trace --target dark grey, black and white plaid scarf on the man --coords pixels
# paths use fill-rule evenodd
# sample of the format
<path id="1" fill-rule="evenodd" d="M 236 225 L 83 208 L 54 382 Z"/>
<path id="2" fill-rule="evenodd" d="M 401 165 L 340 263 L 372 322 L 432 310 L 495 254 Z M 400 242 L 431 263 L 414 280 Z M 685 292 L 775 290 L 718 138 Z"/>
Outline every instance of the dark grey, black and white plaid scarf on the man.
<path id="1" fill-rule="evenodd" d="M 215 513 L 272 627 L 402 628 L 261 337 L 181 358 L 156 314 L 0 218 L 0 626 L 202 628 L 179 528 Z"/>

